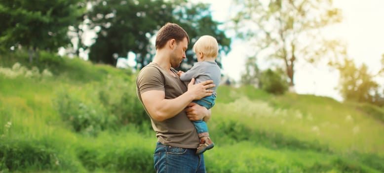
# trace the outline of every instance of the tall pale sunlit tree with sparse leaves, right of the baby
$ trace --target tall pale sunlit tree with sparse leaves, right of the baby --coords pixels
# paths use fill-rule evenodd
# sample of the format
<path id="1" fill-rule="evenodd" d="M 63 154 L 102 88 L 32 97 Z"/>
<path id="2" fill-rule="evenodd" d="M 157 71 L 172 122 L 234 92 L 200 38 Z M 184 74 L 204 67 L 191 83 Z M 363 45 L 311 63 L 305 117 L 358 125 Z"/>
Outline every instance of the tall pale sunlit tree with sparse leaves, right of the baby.
<path id="1" fill-rule="evenodd" d="M 294 86 L 295 63 L 313 63 L 329 53 L 320 30 L 341 21 L 332 0 L 236 0 L 232 18 L 238 36 L 284 67 Z"/>

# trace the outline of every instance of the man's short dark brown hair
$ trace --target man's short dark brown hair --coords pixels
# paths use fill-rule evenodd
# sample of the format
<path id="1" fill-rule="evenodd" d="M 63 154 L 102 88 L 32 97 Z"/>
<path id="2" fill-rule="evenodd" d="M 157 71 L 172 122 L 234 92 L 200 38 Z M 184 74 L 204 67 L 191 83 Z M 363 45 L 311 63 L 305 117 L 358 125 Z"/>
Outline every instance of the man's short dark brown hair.
<path id="1" fill-rule="evenodd" d="M 188 43 L 190 43 L 190 37 L 187 32 L 175 23 L 166 23 L 157 33 L 156 36 L 156 49 L 164 47 L 164 45 L 171 39 L 175 39 L 176 43 L 181 42 L 187 38 Z"/>

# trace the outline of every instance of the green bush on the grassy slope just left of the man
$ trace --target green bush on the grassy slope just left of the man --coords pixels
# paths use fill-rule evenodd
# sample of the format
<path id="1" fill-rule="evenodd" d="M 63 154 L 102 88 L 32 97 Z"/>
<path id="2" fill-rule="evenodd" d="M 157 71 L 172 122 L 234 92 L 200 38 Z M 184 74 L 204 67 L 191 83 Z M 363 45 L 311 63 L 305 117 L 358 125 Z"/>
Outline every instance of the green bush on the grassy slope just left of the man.
<path id="1" fill-rule="evenodd" d="M 98 100 L 94 102 L 77 98 L 76 95 L 81 93 L 62 91 L 55 99 L 58 114 L 75 131 L 93 136 L 123 126 L 148 127 L 149 117 L 137 99 L 132 80 L 109 77 L 103 80 L 103 86 L 88 85 L 95 92 L 86 94 L 89 94 L 88 98 Z"/>

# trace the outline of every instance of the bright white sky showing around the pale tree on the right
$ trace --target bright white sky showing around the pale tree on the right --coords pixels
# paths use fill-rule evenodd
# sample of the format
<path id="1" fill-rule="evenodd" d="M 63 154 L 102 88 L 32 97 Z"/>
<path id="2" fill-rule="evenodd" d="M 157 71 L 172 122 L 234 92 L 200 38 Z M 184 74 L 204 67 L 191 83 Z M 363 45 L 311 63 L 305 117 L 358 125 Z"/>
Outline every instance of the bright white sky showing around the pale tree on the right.
<path id="1" fill-rule="evenodd" d="M 228 20 L 231 0 L 195 0 L 211 4 L 212 18 L 219 22 Z M 380 70 L 380 60 L 384 54 L 384 0 L 334 0 L 334 6 L 342 10 L 343 22 L 332 26 L 326 35 L 340 39 L 347 44 L 348 57 L 357 66 L 365 63 L 371 73 Z M 224 28 L 225 26 L 221 26 Z M 222 57 L 224 72 L 238 81 L 244 68 L 247 46 L 237 39 L 234 33 L 227 32 L 232 38 L 231 51 Z M 259 64 L 263 68 L 263 64 Z M 333 97 L 341 101 L 338 86 L 338 73 L 327 66 L 305 66 L 298 64 L 295 74 L 295 90 L 301 94 L 314 94 Z M 380 81 L 379 81 L 380 82 Z M 382 82 L 383 83 L 383 82 Z M 384 85 L 381 84 L 381 85 Z"/>

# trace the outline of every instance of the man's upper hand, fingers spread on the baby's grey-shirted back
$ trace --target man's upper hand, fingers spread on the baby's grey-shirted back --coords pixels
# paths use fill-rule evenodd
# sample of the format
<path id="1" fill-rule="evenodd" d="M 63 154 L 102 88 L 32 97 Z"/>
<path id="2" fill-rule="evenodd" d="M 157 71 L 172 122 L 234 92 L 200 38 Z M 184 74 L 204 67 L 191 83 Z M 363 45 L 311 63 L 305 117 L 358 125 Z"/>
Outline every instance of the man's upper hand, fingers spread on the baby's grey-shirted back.
<path id="1" fill-rule="evenodd" d="M 196 85 L 194 84 L 194 78 L 192 78 L 191 82 L 188 84 L 188 94 L 190 94 L 193 97 L 193 100 L 199 100 L 205 96 L 212 95 L 213 90 L 208 89 L 211 87 L 215 87 L 215 84 L 212 84 L 212 80 L 204 81 L 201 83 L 198 83 Z"/>

